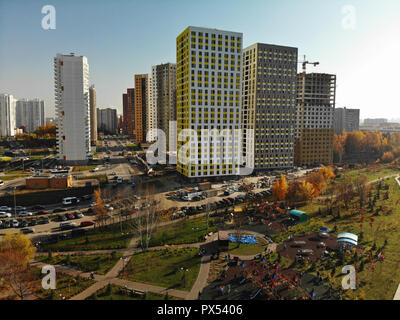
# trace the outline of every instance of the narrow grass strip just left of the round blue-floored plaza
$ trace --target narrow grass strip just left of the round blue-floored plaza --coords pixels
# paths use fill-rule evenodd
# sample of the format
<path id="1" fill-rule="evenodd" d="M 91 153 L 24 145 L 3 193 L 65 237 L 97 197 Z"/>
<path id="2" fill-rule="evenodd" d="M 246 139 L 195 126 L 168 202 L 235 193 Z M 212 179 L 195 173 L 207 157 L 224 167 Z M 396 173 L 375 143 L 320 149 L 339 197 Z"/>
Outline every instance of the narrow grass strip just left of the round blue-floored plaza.
<path id="1" fill-rule="evenodd" d="M 216 231 L 212 218 L 209 218 L 208 231 L 205 217 L 184 220 L 156 231 L 150 239 L 150 247 L 203 242 L 204 235 Z"/>

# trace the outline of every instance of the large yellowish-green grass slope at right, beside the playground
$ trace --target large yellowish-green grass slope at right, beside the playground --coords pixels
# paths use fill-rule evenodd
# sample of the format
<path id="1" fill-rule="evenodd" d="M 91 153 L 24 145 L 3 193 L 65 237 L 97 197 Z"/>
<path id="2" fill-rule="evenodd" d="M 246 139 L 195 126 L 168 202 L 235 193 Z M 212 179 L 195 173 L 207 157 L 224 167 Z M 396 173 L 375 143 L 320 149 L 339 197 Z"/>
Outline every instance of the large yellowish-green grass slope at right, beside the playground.
<path id="1" fill-rule="evenodd" d="M 289 234 L 298 235 L 301 233 L 310 233 L 317 231 L 319 227 L 328 227 L 334 229 L 337 233 L 351 232 L 359 236 L 359 245 L 367 249 L 367 252 L 358 257 L 356 264 L 361 267 L 364 260 L 365 267 L 358 272 L 357 280 L 359 282 L 356 290 L 349 290 L 344 293 L 345 298 L 355 299 L 373 299 L 373 300 L 392 300 L 400 282 L 400 188 L 394 178 L 386 180 L 389 186 L 389 199 L 385 200 L 386 190 L 380 192 L 380 197 L 371 210 L 368 205 L 364 206 L 363 214 L 357 208 L 358 197 L 355 196 L 349 209 L 346 210 L 342 203 L 334 208 L 332 215 L 326 215 L 326 207 L 321 202 L 314 202 L 310 205 L 299 208 L 310 215 L 310 221 L 294 227 L 291 232 L 283 232 L 274 236 L 278 243 L 287 239 Z M 372 197 L 377 194 L 377 185 L 374 184 Z M 321 208 L 322 214 L 318 214 L 318 208 Z M 338 213 L 340 216 L 338 216 Z M 386 243 L 386 246 L 384 246 Z M 372 249 L 371 249 L 372 248 Z M 375 248 L 375 249 L 373 249 Z M 385 259 L 378 262 L 377 253 L 384 250 Z M 369 251 L 372 256 L 369 257 Z M 370 261 L 372 260 L 372 262 Z M 349 263 L 348 261 L 345 263 Z M 327 270 L 327 273 L 333 272 L 333 282 L 340 286 L 342 279 L 341 268 L 344 264 L 339 263 Z"/>

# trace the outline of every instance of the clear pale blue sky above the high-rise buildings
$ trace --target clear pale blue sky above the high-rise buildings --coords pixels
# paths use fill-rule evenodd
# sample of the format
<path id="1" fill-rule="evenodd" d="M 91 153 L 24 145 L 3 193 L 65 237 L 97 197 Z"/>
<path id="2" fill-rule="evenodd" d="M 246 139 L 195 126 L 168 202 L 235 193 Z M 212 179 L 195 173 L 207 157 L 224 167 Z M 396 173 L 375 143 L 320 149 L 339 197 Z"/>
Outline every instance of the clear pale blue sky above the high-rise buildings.
<path id="1" fill-rule="evenodd" d="M 54 30 L 42 28 L 45 5 Z M 122 113 L 134 75 L 175 62 L 187 26 L 242 32 L 244 47 L 298 47 L 320 62 L 308 72 L 337 75 L 336 107 L 400 118 L 398 0 L 0 0 L 0 93 L 43 99 L 53 116 L 53 58 L 74 52 L 88 58 L 97 106 Z"/>

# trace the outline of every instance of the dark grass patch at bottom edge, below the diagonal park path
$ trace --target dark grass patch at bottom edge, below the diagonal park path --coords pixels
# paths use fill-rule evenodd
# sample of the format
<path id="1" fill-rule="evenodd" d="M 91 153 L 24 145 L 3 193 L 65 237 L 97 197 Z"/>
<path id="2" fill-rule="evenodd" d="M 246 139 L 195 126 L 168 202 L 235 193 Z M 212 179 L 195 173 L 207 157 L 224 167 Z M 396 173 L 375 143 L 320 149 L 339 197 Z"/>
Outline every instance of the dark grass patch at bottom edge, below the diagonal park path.
<path id="1" fill-rule="evenodd" d="M 96 292 L 96 294 L 91 295 L 86 300 L 180 300 L 175 297 L 165 295 L 160 295 L 157 293 L 146 292 L 145 296 L 133 296 L 132 294 L 127 293 L 124 288 L 110 284 L 105 286 Z"/>

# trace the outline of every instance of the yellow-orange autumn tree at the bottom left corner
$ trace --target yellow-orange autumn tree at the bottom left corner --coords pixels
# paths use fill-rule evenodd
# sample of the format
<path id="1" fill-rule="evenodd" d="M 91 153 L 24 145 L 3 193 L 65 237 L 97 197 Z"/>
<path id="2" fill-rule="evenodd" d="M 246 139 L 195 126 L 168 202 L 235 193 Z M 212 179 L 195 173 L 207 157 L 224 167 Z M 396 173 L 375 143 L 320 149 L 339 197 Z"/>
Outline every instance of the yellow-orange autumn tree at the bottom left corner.
<path id="1" fill-rule="evenodd" d="M 35 256 L 35 247 L 22 233 L 7 233 L 0 242 L 0 277 L 21 300 L 33 288 L 33 273 L 29 260 Z"/>

